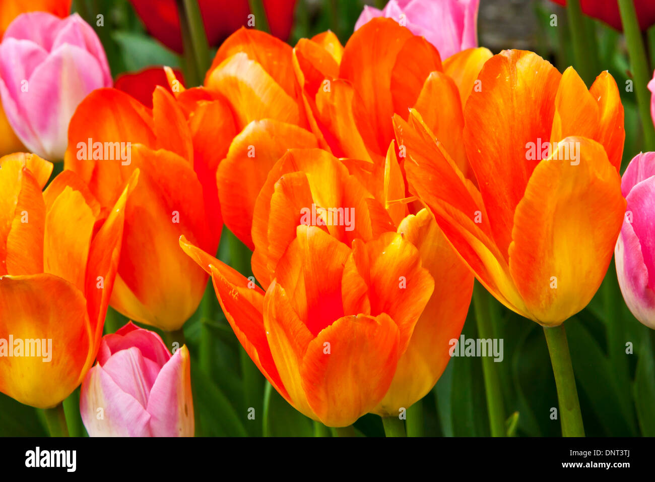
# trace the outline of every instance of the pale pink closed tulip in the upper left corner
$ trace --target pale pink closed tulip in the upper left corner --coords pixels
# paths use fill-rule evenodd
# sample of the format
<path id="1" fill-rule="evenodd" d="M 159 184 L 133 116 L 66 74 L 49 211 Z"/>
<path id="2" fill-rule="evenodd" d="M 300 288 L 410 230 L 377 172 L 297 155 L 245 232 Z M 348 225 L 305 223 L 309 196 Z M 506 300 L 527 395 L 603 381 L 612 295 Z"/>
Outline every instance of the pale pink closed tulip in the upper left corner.
<path id="1" fill-rule="evenodd" d="M 77 104 L 101 87 L 111 87 L 107 57 L 98 35 L 78 14 L 62 19 L 24 13 L 5 31 L 0 95 L 9 124 L 28 150 L 51 161 L 63 159 Z"/>

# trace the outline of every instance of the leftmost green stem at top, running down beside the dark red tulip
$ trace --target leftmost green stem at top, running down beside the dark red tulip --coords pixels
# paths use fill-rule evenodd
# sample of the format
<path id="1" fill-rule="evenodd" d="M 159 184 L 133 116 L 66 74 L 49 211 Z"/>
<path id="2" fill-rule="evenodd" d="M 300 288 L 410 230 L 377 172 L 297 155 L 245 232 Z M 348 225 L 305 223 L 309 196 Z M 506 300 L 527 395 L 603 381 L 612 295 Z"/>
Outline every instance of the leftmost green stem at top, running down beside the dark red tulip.
<path id="1" fill-rule="evenodd" d="M 197 0 L 177 0 L 179 25 L 184 48 L 185 80 L 187 87 L 202 83 L 204 74 L 210 66 L 207 35 L 202 24 L 202 16 Z"/>

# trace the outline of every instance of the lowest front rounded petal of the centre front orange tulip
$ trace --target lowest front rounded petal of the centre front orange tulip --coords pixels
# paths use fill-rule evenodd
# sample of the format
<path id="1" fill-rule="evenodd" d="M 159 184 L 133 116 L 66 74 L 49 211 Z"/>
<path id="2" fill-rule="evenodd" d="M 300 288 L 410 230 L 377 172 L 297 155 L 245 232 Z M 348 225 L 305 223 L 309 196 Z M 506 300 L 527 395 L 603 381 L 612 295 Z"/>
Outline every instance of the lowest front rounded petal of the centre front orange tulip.
<path id="1" fill-rule="evenodd" d="M 396 370 L 399 338 L 396 323 L 381 313 L 341 317 L 309 343 L 302 386 L 321 422 L 348 426 L 375 408 Z"/>

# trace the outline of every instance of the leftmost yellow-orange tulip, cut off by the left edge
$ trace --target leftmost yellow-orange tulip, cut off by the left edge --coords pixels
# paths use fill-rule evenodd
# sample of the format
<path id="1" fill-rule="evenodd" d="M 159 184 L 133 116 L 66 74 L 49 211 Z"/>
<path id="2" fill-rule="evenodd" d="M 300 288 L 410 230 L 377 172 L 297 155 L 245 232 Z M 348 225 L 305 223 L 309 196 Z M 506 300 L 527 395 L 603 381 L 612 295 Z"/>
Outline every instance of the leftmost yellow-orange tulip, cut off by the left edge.
<path id="1" fill-rule="evenodd" d="M 0 158 L 0 392 L 54 407 L 98 347 L 134 172 L 103 214 L 84 182 L 32 154 Z"/>

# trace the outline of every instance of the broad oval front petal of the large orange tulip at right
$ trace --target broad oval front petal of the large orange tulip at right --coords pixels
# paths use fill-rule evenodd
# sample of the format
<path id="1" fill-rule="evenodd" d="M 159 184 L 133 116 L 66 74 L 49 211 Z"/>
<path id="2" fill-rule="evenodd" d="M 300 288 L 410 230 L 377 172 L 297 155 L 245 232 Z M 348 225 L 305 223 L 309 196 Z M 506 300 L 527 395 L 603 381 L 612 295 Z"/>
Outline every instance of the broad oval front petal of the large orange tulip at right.
<path id="1" fill-rule="evenodd" d="M 575 161 L 558 160 L 579 143 Z M 510 272 L 532 319 L 557 326 L 582 310 L 603 281 L 626 202 L 601 144 L 569 137 L 539 163 L 517 205 Z"/>

